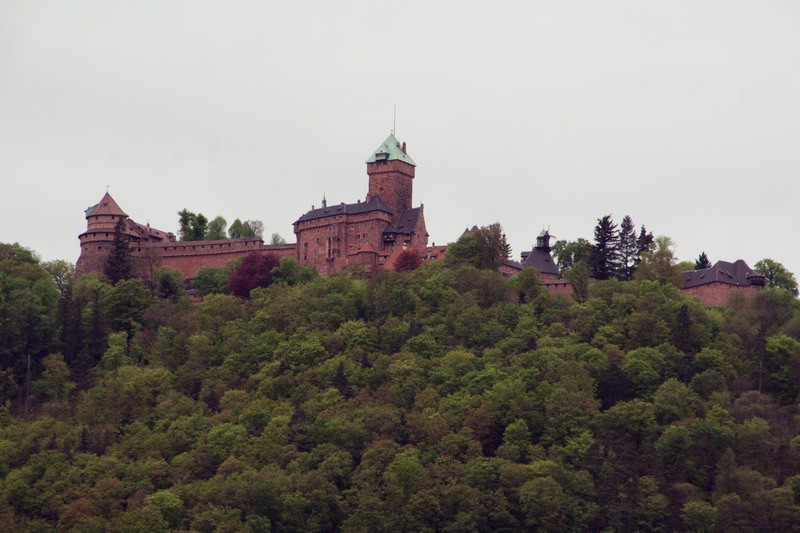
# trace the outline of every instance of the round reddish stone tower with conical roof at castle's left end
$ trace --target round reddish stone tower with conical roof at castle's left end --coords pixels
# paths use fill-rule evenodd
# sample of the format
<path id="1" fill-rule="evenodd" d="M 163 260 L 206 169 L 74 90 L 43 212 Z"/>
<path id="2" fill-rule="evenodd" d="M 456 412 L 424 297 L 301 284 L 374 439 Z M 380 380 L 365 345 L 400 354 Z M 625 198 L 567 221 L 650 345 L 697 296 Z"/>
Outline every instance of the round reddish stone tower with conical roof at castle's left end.
<path id="1" fill-rule="evenodd" d="M 127 218 L 128 215 L 108 192 L 86 210 L 86 232 L 78 236 L 81 242 L 81 255 L 75 267 L 78 277 L 90 272 L 103 272 L 114 242 L 115 226 L 120 219 Z"/>

